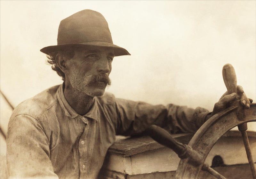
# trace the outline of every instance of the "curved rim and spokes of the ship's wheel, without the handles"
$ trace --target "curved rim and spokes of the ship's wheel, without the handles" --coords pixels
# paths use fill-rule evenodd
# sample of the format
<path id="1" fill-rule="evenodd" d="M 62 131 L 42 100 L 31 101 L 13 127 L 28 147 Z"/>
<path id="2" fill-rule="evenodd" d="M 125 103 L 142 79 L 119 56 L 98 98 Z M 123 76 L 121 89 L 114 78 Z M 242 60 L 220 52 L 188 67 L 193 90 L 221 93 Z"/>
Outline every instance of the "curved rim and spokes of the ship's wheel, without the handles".
<path id="1" fill-rule="evenodd" d="M 244 140 L 244 147 L 250 164 L 252 176 L 254 179 L 256 178 L 255 165 L 253 163 L 246 133 L 247 122 L 256 121 L 256 104 L 251 104 L 250 109 L 244 110 L 243 120 L 240 120 L 237 117 L 237 108 L 237 106 L 229 107 L 226 110 L 215 114 L 200 127 L 200 129 L 195 133 L 193 138 L 188 143 L 188 146 L 200 154 L 202 157 L 202 163 L 196 165 L 193 161 L 189 161 L 189 157 L 186 159 L 181 159 L 177 168 L 176 178 L 198 178 L 201 170 L 208 171 L 216 178 L 224 178 L 212 168 L 205 167 L 204 161 L 217 140 L 227 131 L 236 126 L 238 126 Z"/>

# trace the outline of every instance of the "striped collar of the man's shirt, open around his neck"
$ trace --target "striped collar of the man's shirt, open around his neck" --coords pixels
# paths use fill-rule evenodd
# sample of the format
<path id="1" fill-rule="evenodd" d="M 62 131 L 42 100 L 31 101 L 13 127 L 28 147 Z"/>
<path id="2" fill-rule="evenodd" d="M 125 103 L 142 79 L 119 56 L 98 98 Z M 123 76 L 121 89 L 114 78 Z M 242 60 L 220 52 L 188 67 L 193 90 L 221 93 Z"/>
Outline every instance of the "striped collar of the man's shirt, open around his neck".
<path id="1" fill-rule="evenodd" d="M 69 116 L 70 118 L 81 117 L 81 115 L 77 114 L 76 111 L 68 104 L 63 92 L 63 84 L 57 90 L 57 99 L 61 108 L 64 110 L 65 115 Z M 99 106 L 97 97 L 94 97 L 94 102 L 92 104 L 91 109 L 84 115 L 84 117 L 92 118 L 96 121 L 99 119 Z"/>

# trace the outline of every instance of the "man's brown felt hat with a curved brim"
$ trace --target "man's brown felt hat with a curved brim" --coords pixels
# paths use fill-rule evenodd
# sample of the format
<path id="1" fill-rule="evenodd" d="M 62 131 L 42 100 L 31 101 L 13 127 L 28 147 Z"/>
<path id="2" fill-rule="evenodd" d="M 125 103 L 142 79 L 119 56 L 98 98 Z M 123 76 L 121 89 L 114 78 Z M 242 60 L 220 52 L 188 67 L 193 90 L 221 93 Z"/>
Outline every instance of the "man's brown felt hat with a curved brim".
<path id="1" fill-rule="evenodd" d="M 115 56 L 130 55 L 127 50 L 113 44 L 106 19 L 99 12 L 83 10 L 60 21 L 57 45 L 42 48 L 49 55 L 71 46 L 100 46 L 114 50 Z"/>

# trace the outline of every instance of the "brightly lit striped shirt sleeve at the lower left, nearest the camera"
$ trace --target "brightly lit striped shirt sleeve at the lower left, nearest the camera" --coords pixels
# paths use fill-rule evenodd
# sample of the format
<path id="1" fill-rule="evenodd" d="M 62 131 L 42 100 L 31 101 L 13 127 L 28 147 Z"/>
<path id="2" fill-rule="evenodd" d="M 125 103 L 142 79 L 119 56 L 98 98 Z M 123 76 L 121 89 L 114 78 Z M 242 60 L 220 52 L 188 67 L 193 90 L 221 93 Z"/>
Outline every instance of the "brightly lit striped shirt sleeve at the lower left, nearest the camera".
<path id="1" fill-rule="evenodd" d="M 28 115 L 10 120 L 7 162 L 10 178 L 58 178 L 50 161 L 49 140 L 39 122 Z"/>

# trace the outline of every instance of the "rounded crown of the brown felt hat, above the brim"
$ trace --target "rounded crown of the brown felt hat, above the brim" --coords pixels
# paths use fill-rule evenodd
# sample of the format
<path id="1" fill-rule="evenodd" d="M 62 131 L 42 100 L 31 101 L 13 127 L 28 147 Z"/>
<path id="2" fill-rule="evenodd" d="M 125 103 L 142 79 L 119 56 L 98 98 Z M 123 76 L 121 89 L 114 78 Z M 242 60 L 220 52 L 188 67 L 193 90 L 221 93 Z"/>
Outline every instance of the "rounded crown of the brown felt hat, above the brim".
<path id="1" fill-rule="evenodd" d="M 113 44 L 106 19 L 97 11 L 83 10 L 60 21 L 57 44 L 105 41 Z"/>

